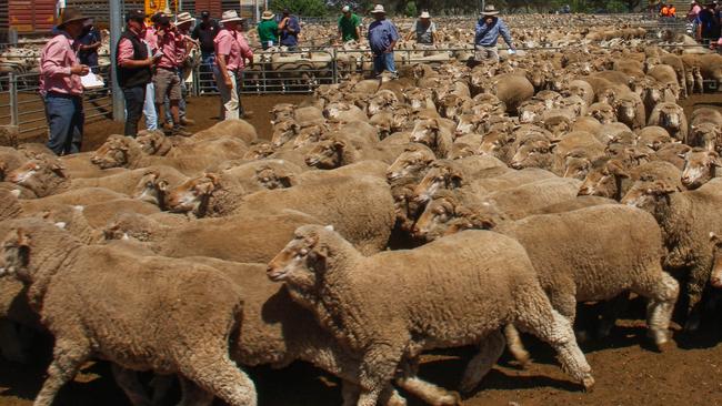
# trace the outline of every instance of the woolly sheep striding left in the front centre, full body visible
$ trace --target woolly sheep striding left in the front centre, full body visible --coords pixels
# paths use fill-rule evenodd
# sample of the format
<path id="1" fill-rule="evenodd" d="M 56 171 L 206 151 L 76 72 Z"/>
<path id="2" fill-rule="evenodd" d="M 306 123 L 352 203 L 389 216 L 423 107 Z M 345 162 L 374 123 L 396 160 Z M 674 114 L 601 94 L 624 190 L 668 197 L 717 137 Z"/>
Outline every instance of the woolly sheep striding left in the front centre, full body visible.
<path id="1" fill-rule="evenodd" d="M 551 308 L 524 250 L 492 232 L 363 256 L 338 233 L 303 226 L 269 263 L 268 275 L 284 282 L 294 301 L 359 354 L 359 406 L 375 405 L 404 358 L 414 362 L 434 347 L 479 345 L 461 385 L 473 389 L 501 355 L 499 328 L 507 324 L 550 343 L 584 387 L 594 382 L 571 325 Z"/>

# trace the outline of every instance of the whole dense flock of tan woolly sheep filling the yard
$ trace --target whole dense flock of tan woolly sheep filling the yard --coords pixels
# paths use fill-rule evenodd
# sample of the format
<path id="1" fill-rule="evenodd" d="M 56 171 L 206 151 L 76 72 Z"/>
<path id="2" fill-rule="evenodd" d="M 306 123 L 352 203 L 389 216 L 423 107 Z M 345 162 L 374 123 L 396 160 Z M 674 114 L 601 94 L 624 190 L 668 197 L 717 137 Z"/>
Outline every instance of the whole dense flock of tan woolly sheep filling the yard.
<path id="1" fill-rule="evenodd" d="M 663 348 L 675 307 L 695 331 L 722 287 L 722 113 L 678 104 L 719 83 L 722 55 L 634 30 L 351 74 L 275 105 L 262 138 L 231 120 L 61 158 L 0 148 L 2 355 L 54 337 L 36 405 L 93 358 L 134 405 L 152 402 L 137 371 L 177 376 L 184 405 L 254 405 L 243 368 L 293 361 L 341 378 L 344 405 L 404 405 L 397 388 L 457 405 L 420 356 L 475 346 L 467 393 L 504 348 L 530 362 L 521 331 L 591 388 L 578 303 L 606 302 L 604 337 L 645 298 Z"/>

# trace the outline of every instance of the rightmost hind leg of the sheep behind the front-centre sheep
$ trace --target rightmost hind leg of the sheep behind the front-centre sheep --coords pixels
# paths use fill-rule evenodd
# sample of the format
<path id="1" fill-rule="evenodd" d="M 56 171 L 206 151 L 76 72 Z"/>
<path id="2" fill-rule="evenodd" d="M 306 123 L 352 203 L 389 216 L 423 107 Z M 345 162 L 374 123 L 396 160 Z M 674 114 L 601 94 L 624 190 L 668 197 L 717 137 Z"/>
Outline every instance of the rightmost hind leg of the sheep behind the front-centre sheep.
<path id="1" fill-rule="evenodd" d="M 650 278 L 634 292 L 650 300 L 646 305 L 646 324 L 654 344 L 662 349 L 662 345 L 668 342 L 668 329 L 680 294 L 680 284 L 666 272 L 659 270 L 658 273 L 660 276 Z"/>

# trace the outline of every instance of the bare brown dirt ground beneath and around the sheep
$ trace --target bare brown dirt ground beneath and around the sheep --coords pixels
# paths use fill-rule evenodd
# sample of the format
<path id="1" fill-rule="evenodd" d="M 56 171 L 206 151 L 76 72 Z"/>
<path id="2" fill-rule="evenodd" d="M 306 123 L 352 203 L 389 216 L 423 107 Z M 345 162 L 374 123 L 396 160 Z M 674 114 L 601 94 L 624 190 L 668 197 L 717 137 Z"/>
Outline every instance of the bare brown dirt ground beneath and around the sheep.
<path id="1" fill-rule="evenodd" d="M 262 138 L 270 134 L 269 113 L 279 102 L 299 102 L 303 97 L 247 97 L 250 120 Z M 190 115 L 198 121 L 197 131 L 215 122 L 215 98 L 191 100 Z M 684 102 L 686 113 L 695 106 L 722 109 L 722 94 L 693 97 Z M 108 134 L 118 133 L 121 123 L 91 123 L 86 130 L 84 149 L 93 149 Z M 593 318 L 583 306 L 578 326 Z M 634 301 L 612 335 L 603 341 L 581 343 L 591 364 L 596 386 L 583 393 L 559 368 L 549 346 L 524 336 L 533 363 L 519 369 L 504 355 L 484 378 L 477 392 L 463 399 L 470 406 L 542 406 L 542 405 L 704 405 L 722 406 L 722 311 L 708 314 L 704 329 L 688 335 L 675 331 L 673 342 L 659 353 L 645 338 L 644 304 Z M 27 406 L 40 389 L 49 362 L 49 341 L 36 343 L 40 349 L 30 366 L 0 359 L 0 406 Z M 461 378 L 472 348 L 437 352 L 424 356 L 421 376 L 443 387 L 454 389 Z M 307 364 L 295 363 L 281 371 L 250 371 L 263 406 L 338 405 L 341 393 L 338 380 Z M 421 405 L 409 396 L 410 405 Z M 169 399 L 167 404 L 171 404 Z M 56 405 L 128 405 L 103 363 L 89 364 L 73 383 L 61 390 Z"/>

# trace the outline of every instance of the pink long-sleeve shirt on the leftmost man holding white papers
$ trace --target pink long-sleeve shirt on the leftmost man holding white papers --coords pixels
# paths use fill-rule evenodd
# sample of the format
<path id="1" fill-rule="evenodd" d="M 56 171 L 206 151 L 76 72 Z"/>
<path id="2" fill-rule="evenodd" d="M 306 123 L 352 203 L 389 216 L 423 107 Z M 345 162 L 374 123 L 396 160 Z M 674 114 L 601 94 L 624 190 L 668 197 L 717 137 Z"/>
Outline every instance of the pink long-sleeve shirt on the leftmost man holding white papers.
<path id="1" fill-rule="evenodd" d="M 82 95 L 80 77 L 70 73 L 72 65 L 79 64 L 73 40 L 63 32 L 53 37 L 40 54 L 40 92 Z"/>

